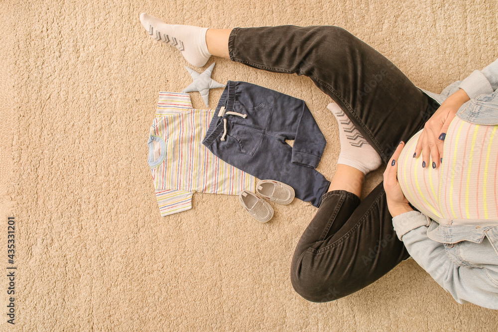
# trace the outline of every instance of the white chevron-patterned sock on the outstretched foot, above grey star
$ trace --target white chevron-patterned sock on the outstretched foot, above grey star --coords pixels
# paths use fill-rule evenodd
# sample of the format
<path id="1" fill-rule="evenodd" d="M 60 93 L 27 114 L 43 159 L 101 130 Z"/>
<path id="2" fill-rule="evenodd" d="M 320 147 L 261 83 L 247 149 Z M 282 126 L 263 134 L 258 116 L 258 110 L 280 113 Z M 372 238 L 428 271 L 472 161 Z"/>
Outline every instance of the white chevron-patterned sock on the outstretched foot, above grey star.
<path id="1" fill-rule="evenodd" d="M 202 67 L 208 62 L 211 54 L 206 44 L 206 31 L 192 25 L 166 24 L 157 17 L 144 12 L 140 14 L 140 22 L 147 33 L 159 42 L 165 42 L 178 48 L 185 60 L 192 66 Z"/>

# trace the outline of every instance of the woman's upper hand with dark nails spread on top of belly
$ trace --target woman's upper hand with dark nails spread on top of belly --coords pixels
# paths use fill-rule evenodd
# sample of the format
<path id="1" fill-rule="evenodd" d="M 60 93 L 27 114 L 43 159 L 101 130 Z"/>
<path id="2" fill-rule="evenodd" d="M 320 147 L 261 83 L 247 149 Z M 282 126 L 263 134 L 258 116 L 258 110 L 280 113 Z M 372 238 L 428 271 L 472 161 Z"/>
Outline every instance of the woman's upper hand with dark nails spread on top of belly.
<path id="1" fill-rule="evenodd" d="M 429 157 L 432 157 L 432 168 L 439 166 L 441 158 L 443 158 L 444 139 L 451 120 L 455 117 L 458 109 L 469 100 L 467 93 L 458 89 L 441 104 L 425 123 L 413 155 L 413 157 L 420 156 L 420 152 L 422 152 L 422 167 L 429 165 Z"/>

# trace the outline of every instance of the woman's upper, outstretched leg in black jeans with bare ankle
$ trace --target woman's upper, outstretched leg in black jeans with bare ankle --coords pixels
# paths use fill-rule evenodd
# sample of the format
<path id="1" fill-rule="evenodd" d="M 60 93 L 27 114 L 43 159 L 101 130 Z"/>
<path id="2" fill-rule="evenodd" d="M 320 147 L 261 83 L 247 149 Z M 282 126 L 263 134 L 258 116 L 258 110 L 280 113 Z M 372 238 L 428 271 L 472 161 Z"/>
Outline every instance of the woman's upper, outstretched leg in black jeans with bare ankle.
<path id="1" fill-rule="evenodd" d="M 428 118 L 428 98 L 389 60 L 336 26 L 208 29 L 211 54 L 310 77 L 387 162 Z M 430 114 L 429 114 L 430 116 Z"/>

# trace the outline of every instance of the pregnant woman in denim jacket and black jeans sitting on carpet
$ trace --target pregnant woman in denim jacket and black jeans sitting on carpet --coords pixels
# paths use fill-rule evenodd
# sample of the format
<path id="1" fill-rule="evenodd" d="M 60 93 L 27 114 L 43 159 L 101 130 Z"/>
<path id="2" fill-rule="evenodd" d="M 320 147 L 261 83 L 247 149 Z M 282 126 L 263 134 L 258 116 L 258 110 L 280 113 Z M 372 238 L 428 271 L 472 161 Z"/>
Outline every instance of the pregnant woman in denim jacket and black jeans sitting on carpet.
<path id="1" fill-rule="evenodd" d="M 176 39 L 194 66 L 214 55 L 305 75 L 334 101 L 341 153 L 294 252 L 297 293 L 336 300 L 411 255 L 457 302 L 498 309 L 498 60 L 434 94 L 336 26 L 140 21 L 152 38 Z M 383 183 L 361 201 L 365 175 L 381 162 Z"/>

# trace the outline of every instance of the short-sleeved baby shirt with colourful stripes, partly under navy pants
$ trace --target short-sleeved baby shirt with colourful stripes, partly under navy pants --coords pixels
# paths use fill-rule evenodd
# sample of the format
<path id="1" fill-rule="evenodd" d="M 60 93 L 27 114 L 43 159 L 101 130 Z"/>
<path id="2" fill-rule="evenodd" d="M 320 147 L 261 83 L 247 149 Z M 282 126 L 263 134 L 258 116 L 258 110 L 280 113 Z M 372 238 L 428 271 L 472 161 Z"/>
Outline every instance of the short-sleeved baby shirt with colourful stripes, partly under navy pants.
<path id="1" fill-rule="evenodd" d="M 213 114 L 193 109 L 189 94 L 159 93 L 147 161 L 161 216 L 191 209 L 194 192 L 254 191 L 252 175 L 219 159 L 201 143 Z"/>

